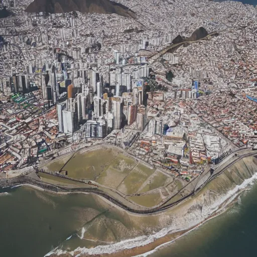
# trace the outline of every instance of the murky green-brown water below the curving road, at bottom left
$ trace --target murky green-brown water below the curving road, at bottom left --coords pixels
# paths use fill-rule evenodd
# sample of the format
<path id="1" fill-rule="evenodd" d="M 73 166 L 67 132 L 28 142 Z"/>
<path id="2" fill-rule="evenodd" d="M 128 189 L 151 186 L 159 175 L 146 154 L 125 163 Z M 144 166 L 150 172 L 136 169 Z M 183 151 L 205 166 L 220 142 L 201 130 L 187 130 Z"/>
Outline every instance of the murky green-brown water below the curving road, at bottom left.
<path id="1" fill-rule="evenodd" d="M 18 187 L 0 193 L 0 256 L 43 257 L 102 212 L 85 194 L 55 195 Z"/>

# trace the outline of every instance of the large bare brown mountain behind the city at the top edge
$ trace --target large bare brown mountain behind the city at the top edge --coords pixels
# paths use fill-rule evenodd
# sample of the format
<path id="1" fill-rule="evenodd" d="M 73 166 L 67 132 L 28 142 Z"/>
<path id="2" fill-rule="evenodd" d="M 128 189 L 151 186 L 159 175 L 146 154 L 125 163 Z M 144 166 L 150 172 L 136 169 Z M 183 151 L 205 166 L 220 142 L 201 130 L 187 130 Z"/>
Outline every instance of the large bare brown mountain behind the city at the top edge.
<path id="1" fill-rule="evenodd" d="M 110 0 L 34 0 L 26 9 L 28 13 L 81 13 L 117 14 L 125 17 L 135 17 L 129 8 Z"/>

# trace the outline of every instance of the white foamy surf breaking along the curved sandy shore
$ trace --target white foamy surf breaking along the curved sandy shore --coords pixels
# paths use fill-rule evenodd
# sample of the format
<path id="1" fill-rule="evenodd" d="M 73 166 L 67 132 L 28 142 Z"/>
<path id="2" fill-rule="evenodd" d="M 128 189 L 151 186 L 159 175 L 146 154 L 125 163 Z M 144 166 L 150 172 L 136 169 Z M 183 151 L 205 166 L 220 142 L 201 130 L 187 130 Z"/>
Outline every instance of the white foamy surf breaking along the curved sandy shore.
<path id="1" fill-rule="evenodd" d="M 58 254 L 65 254 L 65 253 L 70 253 L 72 256 L 74 256 L 75 252 L 76 252 L 76 257 L 79 257 L 81 254 L 88 254 L 88 255 L 104 254 L 104 253 L 111 254 L 111 253 L 114 253 L 117 251 L 122 251 L 125 249 L 132 249 L 135 247 L 144 246 L 144 245 L 154 242 L 158 238 L 164 237 L 167 234 L 175 233 L 175 232 L 179 232 L 182 230 L 192 228 L 191 230 L 189 230 L 188 232 L 183 234 L 183 235 L 185 235 L 185 234 L 189 233 L 190 231 L 192 231 L 193 229 L 196 229 L 197 227 L 202 225 L 203 222 L 207 221 L 207 219 L 214 217 L 211 215 L 218 214 L 218 213 L 222 212 L 223 210 L 225 210 L 226 207 L 229 204 L 231 204 L 242 191 L 246 190 L 251 185 L 253 185 L 255 180 L 257 180 L 257 173 L 255 173 L 251 178 L 244 180 L 241 185 L 237 185 L 233 189 L 229 190 L 227 194 L 221 195 L 213 203 L 211 203 L 210 206 L 204 207 L 202 209 L 201 213 L 196 213 L 196 215 L 194 215 L 194 217 L 192 217 L 192 215 L 191 215 L 192 213 L 186 214 L 186 215 L 191 215 L 190 219 L 187 219 L 187 217 L 185 215 L 184 217 L 182 217 L 184 219 L 184 222 L 182 222 L 182 223 L 178 222 L 175 224 L 173 223 L 173 225 L 171 227 L 163 228 L 155 234 L 143 235 L 143 236 L 139 236 L 139 237 L 132 238 L 132 239 L 126 239 L 126 240 L 123 240 L 123 241 L 120 241 L 117 243 L 113 243 L 110 245 L 98 245 L 94 248 L 77 247 L 73 251 L 62 250 L 62 249 L 59 249 L 59 247 L 57 247 L 54 250 L 52 250 L 51 252 L 47 253 L 45 256 L 50 256 L 51 254 L 58 255 Z M 189 221 L 187 222 L 187 220 L 189 220 Z M 181 224 L 183 224 L 184 226 Z M 81 236 L 79 236 L 80 239 L 82 239 L 84 237 L 85 231 L 86 230 L 83 227 L 81 230 Z M 181 235 L 181 236 L 183 236 L 183 235 Z M 179 236 L 179 237 L 181 237 L 181 236 Z M 176 238 L 176 239 L 178 239 L 178 238 Z M 176 240 L 176 239 L 174 239 L 174 240 Z M 158 250 L 160 247 L 163 247 L 164 245 L 169 244 L 169 243 L 173 242 L 174 240 L 166 242 L 164 244 L 161 244 L 161 245 L 157 246 L 155 249 L 153 249 L 147 253 L 144 253 L 144 254 L 139 254 L 137 256 L 148 256 L 149 254 Z M 78 253 L 78 252 L 80 252 L 80 253 Z"/>

